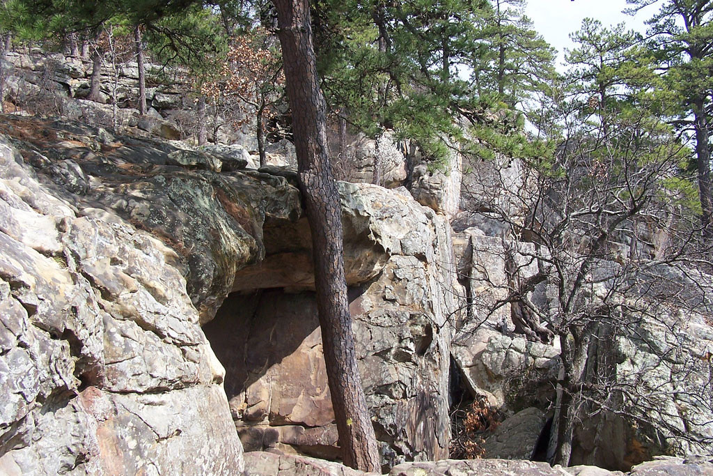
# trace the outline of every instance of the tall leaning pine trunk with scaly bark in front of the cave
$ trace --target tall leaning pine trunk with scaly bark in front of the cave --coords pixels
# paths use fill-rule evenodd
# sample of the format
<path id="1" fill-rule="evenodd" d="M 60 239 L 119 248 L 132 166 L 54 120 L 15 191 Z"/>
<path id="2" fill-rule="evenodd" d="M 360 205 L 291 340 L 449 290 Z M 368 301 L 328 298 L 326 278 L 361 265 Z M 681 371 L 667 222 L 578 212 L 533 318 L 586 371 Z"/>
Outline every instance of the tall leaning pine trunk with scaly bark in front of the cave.
<path id="1" fill-rule="evenodd" d="M 317 311 L 344 464 L 378 471 L 379 452 L 354 352 L 337 184 L 327 158 L 327 113 L 317 78 L 308 0 L 274 0 L 299 182 L 312 229 Z"/>

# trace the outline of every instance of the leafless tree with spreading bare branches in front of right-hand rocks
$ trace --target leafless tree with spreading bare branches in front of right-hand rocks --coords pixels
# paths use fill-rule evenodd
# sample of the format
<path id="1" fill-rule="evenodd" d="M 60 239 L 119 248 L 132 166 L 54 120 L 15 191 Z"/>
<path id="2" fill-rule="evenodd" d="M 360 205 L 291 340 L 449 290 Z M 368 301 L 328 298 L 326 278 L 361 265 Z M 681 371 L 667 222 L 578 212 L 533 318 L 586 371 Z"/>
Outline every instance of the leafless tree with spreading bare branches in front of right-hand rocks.
<path id="1" fill-rule="evenodd" d="M 711 243 L 679 168 L 687 149 L 645 113 L 607 134 L 596 121 L 565 125 L 553 158 L 475 159 L 463 200 L 466 223 L 504 237 L 506 280 L 493 283 L 503 293 L 485 312 L 509 305 L 515 332 L 560 345 L 550 460 L 572 462 L 585 422 L 605 412 L 655 432 L 661 451 L 709 450 L 712 422 L 699 415 L 713 415 L 700 377 L 710 355 L 680 340 L 692 316 L 713 322 Z M 646 342 L 652 328 L 671 340 Z M 655 358 L 627 360 L 621 346 L 634 341 Z"/>

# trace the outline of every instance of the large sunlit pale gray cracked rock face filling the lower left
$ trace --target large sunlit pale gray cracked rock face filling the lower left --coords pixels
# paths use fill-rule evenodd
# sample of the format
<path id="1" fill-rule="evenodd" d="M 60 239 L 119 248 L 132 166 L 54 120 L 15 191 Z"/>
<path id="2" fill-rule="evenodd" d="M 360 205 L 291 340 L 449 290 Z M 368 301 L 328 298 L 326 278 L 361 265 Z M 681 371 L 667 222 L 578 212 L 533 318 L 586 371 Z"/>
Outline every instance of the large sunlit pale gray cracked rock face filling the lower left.
<path id="1" fill-rule="evenodd" d="M 2 140 L 0 472 L 240 472 L 178 255 L 67 195 Z"/>

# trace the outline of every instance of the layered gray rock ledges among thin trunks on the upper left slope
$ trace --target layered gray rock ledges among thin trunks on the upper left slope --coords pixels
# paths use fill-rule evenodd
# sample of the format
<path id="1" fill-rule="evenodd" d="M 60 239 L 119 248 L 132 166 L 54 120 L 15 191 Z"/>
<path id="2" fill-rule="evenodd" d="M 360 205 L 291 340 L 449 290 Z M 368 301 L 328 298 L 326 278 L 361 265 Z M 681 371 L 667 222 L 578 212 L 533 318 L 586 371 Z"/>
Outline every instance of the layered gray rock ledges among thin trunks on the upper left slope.
<path id="1" fill-rule="evenodd" d="M 183 79 L 185 71 L 180 69 L 145 65 L 147 82 L 156 85 L 146 88 L 149 112 L 145 116 L 138 112 L 138 66 L 135 62 L 118 65 L 116 91 L 111 64 L 103 65 L 97 102 L 84 100 L 92 72 L 88 59 L 42 51 L 9 51 L 6 71 L 4 100 L 11 105 L 11 110 L 62 116 L 93 126 L 114 127 L 135 136 L 177 140 L 197 135 L 196 105 L 185 94 L 192 86 Z M 216 116 L 210 106 L 208 108 L 210 124 L 205 125 L 209 131 L 215 128 L 217 136 L 212 139 L 219 143 L 237 143 L 250 150 L 255 148 L 254 119 L 249 118 L 245 126 L 235 128 L 232 121 Z"/>

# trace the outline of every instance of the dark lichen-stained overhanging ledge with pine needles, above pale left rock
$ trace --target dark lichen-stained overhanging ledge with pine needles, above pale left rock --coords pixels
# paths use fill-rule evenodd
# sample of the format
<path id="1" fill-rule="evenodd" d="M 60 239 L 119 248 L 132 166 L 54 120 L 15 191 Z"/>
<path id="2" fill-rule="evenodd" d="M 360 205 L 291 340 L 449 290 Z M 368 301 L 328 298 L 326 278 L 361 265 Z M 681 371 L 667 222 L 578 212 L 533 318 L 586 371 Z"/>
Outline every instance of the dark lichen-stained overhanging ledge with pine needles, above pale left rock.
<path id="1" fill-rule="evenodd" d="M 202 321 L 230 292 L 235 272 L 264 255 L 262 223 L 291 223 L 302 213 L 299 192 L 285 178 L 215 173 L 222 163 L 217 154 L 101 134 L 78 123 L 9 117 L 3 129 L 28 157 L 39 154 L 53 164 L 71 159 L 76 167 L 63 168 L 67 173 L 39 172 L 50 172 L 51 186 L 73 206 L 111 211 L 173 248 Z"/>

